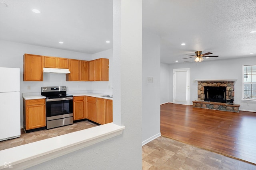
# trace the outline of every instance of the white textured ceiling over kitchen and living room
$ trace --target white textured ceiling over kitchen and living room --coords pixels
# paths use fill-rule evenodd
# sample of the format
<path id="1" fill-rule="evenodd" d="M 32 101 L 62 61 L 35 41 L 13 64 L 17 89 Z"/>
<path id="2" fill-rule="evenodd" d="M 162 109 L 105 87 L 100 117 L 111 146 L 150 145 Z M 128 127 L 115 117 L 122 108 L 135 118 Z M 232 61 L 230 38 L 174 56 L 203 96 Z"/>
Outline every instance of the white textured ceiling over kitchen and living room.
<path id="1" fill-rule="evenodd" d="M 8 5 L 0 3 L 1 40 L 91 54 L 112 48 L 112 0 L 0 2 Z M 143 29 L 161 37 L 162 63 L 193 61 L 182 58 L 194 51 L 219 55 L 204 62 L 256 57 L 256 0 L 143 0 L 142 12 Z"/>

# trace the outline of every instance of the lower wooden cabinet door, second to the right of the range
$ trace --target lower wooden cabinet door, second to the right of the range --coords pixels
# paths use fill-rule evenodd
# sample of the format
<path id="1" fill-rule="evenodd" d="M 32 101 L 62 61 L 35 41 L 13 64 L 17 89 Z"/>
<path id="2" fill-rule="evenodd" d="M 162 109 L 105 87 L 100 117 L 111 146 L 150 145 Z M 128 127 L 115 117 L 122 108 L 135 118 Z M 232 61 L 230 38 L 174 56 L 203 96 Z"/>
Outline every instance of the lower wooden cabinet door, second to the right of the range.
<path id="1" fill-rule="evenodd" d="M 97 115 L 96 115 L 96 98 L 94 97 L 86 97 L 86 111 L 87 111 L 87 118 L 91 121 L 97 122 Z"/>

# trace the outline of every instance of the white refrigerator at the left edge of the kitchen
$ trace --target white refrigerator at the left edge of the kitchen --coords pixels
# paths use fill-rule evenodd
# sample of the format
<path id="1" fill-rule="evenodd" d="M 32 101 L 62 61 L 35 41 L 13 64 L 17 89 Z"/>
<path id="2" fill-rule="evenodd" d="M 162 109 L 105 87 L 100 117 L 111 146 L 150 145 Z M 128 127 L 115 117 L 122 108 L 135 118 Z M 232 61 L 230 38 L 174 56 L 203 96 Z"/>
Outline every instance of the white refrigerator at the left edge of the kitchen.
<path id="1" fill-rule="evenodd" d="M 20 68 L 0 67 L 0 141 L 20 137 Z"/>

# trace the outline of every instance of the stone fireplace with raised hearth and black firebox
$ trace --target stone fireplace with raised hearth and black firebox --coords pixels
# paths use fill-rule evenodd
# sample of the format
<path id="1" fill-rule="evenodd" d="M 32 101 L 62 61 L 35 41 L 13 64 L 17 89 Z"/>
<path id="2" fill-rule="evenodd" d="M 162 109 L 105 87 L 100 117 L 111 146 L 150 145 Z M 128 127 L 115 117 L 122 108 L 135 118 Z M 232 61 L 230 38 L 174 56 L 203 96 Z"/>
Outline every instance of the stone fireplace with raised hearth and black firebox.
<path id="1" fill-rule="evenodd" d="M 235 81 L 198 80 L 198 100 L 193 101 L 193 107 L 239 112 L 240 105 L 227 104 L 234 100 Z M 232 92 L 228 89 L 232 88 Z"/>

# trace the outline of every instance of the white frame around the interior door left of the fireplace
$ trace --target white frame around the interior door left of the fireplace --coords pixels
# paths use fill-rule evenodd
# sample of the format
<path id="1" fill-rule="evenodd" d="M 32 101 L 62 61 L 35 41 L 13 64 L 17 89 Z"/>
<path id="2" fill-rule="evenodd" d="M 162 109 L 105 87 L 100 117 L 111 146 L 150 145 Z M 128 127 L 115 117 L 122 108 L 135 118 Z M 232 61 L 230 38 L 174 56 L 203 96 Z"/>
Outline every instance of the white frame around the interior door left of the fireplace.
<path id="1" fill-rule="evenodd" d="M 175 97 L 176 97 L 176 93 L 175 93 L 175 87 L 176 87 L 176 72 L 180 72 L 180 71 L 186 71 L 186 86 L 187 86 L 187 90 L 186 90 L 186 104 L 184 105 L 190 105 L 190 68 L 178 68 L 178 69 L 173 69 L 173 95 L 172 95 L 172 101 L 175 104 Z"/>

